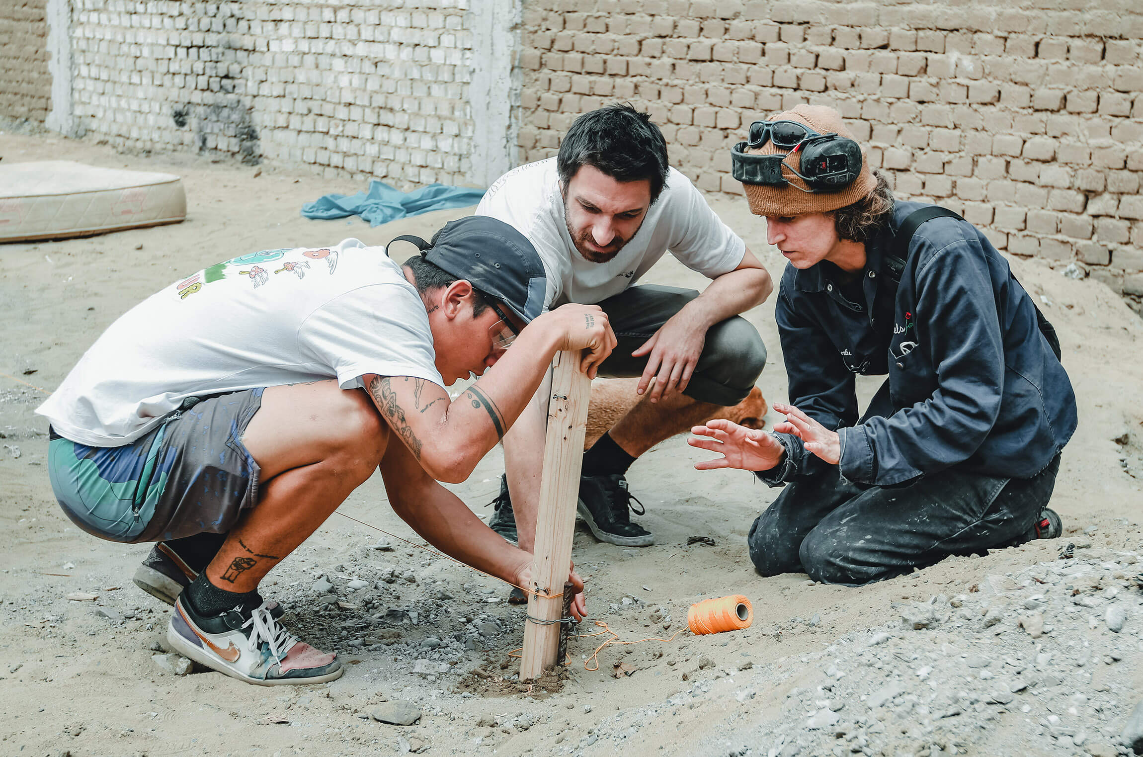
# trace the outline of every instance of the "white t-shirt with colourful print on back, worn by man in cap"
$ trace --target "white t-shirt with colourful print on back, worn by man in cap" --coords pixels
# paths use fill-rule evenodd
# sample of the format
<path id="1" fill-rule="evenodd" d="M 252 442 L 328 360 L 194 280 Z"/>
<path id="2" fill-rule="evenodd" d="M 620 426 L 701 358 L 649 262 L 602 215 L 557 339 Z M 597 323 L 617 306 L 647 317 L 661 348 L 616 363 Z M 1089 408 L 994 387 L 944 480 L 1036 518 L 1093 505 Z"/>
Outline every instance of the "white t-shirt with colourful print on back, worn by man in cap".
<path id="1" fill-rule="evenodd" d="M 337 378 L 443 387 L 429 316 L 383 247 L 267 249 L 211 265 L 131 308 L 35 412 L 59 436 L 130 444 L 192 396 Z"/>

